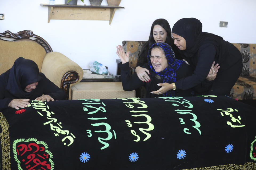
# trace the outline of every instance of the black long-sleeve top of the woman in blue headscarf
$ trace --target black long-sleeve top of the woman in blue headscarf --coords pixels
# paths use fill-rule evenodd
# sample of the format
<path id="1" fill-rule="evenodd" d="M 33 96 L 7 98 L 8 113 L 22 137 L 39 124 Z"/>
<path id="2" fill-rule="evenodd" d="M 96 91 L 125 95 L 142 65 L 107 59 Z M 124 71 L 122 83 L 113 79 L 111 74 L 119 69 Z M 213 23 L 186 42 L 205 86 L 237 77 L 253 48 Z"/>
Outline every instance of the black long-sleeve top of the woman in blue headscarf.
<path id="1" fill-rule="evenodd" d="M 146 97 L 162 97 L 162 95 L 156 95 L 152 94 L 150 92 L 152 91 L 157 91 L 161 86 L 157 86 L 158 83 L 163 83 L 163 79 L 159 77 L 157 74 L 155 74 L 154 71 L 150 69 L 150 67 L 147 64 L 143 65 L 143 68 L 146 68 L 150 71 L 150 81 L 148 83 L 142 82 L 137 74 L 132 74 L 130 73 L 129 70 L 129 62 L 126 62 L 122 64 L 120 62 L 118 66 L 121 69 L 121 82 L 123 86 L 123 90 L 125 91 L 132 91 L 135 90 L 141 86 L 145 86 L 146 88 Z M 191 68 L 187 64 L 183 64 L 182 66 L 179 67 L 179 69 L 176 71 L 176 80 L 179 80 L 183 77 L 190 76 L 192 73 Z M 193 96 L 193 90 L 192 89 L 187 89 L 187 90 L 181 90 L 177 88 L 175 90 L 175 96 Z"/>

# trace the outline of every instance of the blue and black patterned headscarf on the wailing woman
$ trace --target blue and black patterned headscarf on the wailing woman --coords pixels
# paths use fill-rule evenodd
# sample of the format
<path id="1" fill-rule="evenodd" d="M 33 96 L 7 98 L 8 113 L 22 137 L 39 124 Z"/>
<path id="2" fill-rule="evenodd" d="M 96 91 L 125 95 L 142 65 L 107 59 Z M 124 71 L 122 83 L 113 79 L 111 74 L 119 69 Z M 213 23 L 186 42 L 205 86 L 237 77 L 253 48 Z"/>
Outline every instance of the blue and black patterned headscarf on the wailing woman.
<path id="1" fill-rule="evenodd" d="M 165 56 L 168 61 L 168 66 L 161 72 L 156 72 L 153 65 L 150 61 L 151 50 L 155 46 L 160 46 L 165 52 Z M 178 60 L 175 58 L 173 49 L 169 44 L 166 43 L 155 43 L 149 48 L 149 52 L 147 54 L 147 62 L 151 70 L 153 70 L 157 75 L 163 77 L 163 83 L 173 83 L 176 82 L 176 70 L 185 63 L 185 61 Z M 173 90 L 169 90 L 163 94 L 163 96 L 175 96 L 175 92 Z"/>

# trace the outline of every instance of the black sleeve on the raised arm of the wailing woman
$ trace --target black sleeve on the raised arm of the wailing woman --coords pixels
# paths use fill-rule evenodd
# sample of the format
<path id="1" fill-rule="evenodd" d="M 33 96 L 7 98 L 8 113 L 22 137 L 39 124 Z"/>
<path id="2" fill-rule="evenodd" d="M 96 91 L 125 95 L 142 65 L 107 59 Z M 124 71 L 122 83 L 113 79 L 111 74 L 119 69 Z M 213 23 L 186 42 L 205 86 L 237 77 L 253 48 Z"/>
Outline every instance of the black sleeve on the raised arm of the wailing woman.
<path id="1" fill-rule="evenodd" d="M 137 74 L 131 75 L 129 70 L 129 62 L 126 62 L 124 64 L 120 62 L 118 64 L 118 67 L 121 69 L 121 82 L 122 82 L 123 90 L 132 91 L 143 86 L 144 82 L 142 82 L 138 78 Z"/>

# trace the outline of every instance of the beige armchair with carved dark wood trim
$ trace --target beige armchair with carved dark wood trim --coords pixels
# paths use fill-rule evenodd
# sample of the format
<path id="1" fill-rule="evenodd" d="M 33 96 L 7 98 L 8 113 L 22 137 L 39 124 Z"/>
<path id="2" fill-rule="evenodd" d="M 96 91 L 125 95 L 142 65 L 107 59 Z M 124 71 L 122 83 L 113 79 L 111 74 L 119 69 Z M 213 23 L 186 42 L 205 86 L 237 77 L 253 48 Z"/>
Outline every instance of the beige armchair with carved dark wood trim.
<path id="1" fill-rule="evenodd" d="M 70 96 L 70 88 L 83 78 L 83 69 L 30 30 L 0 33 L 0 75 L 13 66 L 18 57 L 33 60 L 39 71 Z"/>

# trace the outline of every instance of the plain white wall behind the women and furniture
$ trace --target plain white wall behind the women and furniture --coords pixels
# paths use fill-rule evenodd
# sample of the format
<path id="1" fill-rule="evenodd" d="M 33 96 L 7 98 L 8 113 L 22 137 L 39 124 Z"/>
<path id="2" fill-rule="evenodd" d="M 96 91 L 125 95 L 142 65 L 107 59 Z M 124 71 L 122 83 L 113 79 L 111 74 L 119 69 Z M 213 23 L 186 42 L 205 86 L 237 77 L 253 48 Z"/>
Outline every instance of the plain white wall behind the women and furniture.
<path id="1" fill-rule="evenodd" d="M 32 30 L 45 39 L 53 51 L 61 52 L 89 69 L 91 61 L 98 61 L 116 74 L 116 46 L 123 40 L 148 40 L 151 24 L 165 18 L 173 24 L 181 18 L 194 17 L 203 24 L 203 31 L 222 36 L 231 43 L 256 43 L 255 0 L 122 0 L 111 25 L 109 21 L 50 20 L 48 7 L 40 3 L 48 0 L 0 0 L 0 32 L 13 33 Z M 64 4 L 64 0 L 55 0 Z M 89 0 L 78 4 L 90 5 Z M 107 5 L 103 0 L 101 5 Z M 227 21 L 227 28 L 220 28 L 219 21 Z"/>

